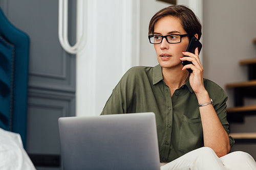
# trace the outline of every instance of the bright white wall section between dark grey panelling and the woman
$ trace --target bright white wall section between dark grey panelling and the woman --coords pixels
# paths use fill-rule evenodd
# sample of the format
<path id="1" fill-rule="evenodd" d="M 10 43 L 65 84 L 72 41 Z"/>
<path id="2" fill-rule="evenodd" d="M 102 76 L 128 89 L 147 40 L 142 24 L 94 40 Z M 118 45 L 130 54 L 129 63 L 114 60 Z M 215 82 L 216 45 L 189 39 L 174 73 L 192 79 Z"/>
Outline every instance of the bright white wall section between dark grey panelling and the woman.
<path id="1" fill-rule="evenodd" d="M 88 0 L 77 54 L 76 115 L 98 115 L 124 72 L 139 64 L 139 1 Z"/>

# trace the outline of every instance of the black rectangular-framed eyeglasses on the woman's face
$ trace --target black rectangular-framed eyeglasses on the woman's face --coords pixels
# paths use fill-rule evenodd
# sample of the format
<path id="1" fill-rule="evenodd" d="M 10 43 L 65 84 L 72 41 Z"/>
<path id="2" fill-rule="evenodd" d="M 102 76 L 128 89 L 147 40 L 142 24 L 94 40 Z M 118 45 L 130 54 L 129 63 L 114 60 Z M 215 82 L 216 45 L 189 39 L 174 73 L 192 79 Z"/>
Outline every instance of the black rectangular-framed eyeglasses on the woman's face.
<path id="1" fill-rule="evenodd" d="M 149 35 L 148 39 L 152 44 L 160 44 L 163 41 L 163 38 L 170 44 L 180 43 L 182 37 L 189 36 L 188 34 L 170 34 L 170 35 Z"/>

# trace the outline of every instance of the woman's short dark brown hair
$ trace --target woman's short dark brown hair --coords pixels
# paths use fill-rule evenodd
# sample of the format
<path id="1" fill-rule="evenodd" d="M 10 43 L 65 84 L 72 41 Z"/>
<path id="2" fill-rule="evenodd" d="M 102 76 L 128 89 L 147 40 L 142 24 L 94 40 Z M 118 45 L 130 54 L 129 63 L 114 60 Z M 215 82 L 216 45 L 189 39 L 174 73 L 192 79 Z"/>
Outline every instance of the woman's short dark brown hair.
<path id="1" fill-rule="evenodd" d="M 165 16 L 174 16 L 179 18 L 181 21 L 181 25 L 183 29 L 187 32 L 187 34 L 198 34 L 198 39 L 201 38 L 202 26 L 199 19 L 192 10 L 183 5 L 173 5 L 158 11 L 150 20 L 150 26 L 148 27 L 148 35 L 153 35 L 156 22 L 160 18 Z"/>

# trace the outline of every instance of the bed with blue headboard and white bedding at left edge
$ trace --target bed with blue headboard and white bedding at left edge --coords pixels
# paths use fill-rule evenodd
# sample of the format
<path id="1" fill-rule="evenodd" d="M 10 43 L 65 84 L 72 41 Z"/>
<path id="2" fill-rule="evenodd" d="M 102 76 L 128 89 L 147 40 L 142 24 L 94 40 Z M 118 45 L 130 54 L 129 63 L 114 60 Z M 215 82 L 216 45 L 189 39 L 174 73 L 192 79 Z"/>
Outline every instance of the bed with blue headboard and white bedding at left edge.
<path id="1" fill-rule="evenodd" d="M 0 9 L 0 168 L 35 169 L 24 148 L 27 132 L 29 36 Z"/>

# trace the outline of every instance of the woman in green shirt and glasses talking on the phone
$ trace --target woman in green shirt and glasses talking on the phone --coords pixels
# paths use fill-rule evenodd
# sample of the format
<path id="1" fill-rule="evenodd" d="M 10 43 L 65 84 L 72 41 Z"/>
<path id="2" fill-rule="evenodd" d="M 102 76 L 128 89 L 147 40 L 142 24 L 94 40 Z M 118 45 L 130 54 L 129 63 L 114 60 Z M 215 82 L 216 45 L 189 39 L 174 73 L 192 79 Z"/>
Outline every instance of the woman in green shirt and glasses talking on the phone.
<path id="1" fill-rule="evenodd" d="M 185 6 L 170 6 L 152 17 L 148 35 L 159 65 L 128 70 L 101 114 L 154 112 L 160 161 L 170 162 L 161 169 L 225 169 L 219 157 L 228 154 L 234 143 L 228 136 L 227 96 L 203 78 L 198 48 L 195 54 L 185 52 L 193 36 L 201 37 L 199 20 Z M 185 60 L 193 64 L 183 66 Z M 248 154 L 239 154 L 239 159 L 255 163 Z M 214 165 L 208 167 L 209 162 Z"/>

